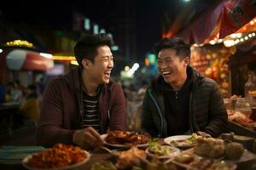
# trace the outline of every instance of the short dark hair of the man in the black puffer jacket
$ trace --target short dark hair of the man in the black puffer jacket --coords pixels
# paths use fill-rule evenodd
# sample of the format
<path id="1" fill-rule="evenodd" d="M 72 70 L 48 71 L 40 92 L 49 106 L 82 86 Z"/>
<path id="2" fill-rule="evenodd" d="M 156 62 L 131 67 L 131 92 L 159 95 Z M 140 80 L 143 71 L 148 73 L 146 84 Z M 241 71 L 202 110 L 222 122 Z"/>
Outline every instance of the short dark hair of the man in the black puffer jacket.
<path id="1" fill-rule="evenodd" d="M 180 37 L 169 37 L 162 39 L 154 45 L 154 52 L 158 54 L 160 50 L 171 48 L 176 51 L 180 58 L 190 57 L 190 44 L 184 42 Z"/>

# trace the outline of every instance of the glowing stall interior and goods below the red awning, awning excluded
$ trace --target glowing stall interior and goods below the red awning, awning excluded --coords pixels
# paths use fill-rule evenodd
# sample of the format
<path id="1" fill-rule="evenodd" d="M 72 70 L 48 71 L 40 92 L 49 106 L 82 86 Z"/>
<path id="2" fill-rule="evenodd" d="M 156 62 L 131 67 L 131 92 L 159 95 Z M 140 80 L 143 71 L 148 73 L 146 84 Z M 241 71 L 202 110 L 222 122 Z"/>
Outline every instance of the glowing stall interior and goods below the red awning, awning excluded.
<path id="1" fill-rule="evenodd" d="M 247 37 L 247 35 L 252 34 L 247 33 L 241 38 Z M 191 53 L 191 65 L 195 70 L 218 82 L 220 91 L 224 96 L 224 103 L 227 105 L 230 121 L 229 130 L 252 137 L 256 136 L 256 120 L 253 116 L 255 105 L 248 98 L 245 98 L 244 94 L 248 75 L 252 74 L 253 76 L 253 72 L 256 71 L 255 66 L 253 66 L 256 61 L 253 50 L 241 52 L 241 49 L 248 43 L 255 44 L 253 43 L 255 40 L 256 38 L 252 38 L 230 48 L 225 47 L 223 43 L 192 47 Z M 250 49 L 249 47 L 247 45 L 247 49 Z M 255 80 L 251 83 L 255 86 Z M 230 99 L 234 94 L 240 97 Z M 255 98 L 253 97 L 255 96 L 253 90 L 250 91 L 250 94 L 251 98 Z"/>

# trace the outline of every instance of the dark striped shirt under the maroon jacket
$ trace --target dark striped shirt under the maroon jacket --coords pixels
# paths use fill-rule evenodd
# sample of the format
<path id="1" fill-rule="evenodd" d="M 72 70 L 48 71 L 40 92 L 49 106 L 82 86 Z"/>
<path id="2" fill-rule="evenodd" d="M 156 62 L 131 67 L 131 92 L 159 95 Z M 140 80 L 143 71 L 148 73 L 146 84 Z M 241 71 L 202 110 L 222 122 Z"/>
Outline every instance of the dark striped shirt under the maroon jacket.
<path id="1" fill-rule="evenodd" d="M 98 95 L 90 96 L 84 92 L 83 100 L 84 100 L 83 127 L 94 127 L 96 131 L 100 132 Z"/>

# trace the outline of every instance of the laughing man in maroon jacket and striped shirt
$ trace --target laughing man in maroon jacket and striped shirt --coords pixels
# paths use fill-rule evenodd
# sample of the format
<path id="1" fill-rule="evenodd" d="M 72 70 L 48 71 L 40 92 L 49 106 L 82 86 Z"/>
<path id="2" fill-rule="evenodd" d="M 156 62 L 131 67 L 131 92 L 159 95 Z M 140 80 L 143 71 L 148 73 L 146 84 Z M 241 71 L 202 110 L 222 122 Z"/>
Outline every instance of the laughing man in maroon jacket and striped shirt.
<path id="1" fill-rule="evenodd" d="M 77 144 L 92 150 L 103 144 L 107 129 L 125 129 L 125 96 L 110 79 L 111 39 L 88 35 L 74 48 L 79 68 L 49 82 L 38 121 L 38 144 Z"/>

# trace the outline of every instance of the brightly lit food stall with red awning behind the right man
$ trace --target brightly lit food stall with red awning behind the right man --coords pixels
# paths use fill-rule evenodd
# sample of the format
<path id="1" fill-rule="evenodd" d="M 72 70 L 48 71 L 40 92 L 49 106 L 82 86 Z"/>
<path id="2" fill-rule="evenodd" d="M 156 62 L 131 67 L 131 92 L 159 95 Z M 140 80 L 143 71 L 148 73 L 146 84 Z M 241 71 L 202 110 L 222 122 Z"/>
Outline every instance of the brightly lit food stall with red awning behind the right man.
<path id="1" fill-rule="evenodd" d="M 239 102 L 245 97 L 244 84 L 248 75 L 256 72 L 256 18 L 253 11 L 256 8 L 251 1 L 219 1 L 188 28 L 177 33 L 193 44 L 191 65 L 195 70 L 218 82 L 224 98 L 236 94 Z M 253 78 L 253 84 L 255 82 Z M 255 98 L 255 94 L 253 96 Z M 255 105 L 247 100 L 239 108 L 236 99 L 233 99 L 232 110 L 228 111 L 228 131 L 255 138 L 256 120 L 250 116 Z M 245 111 L 244 114 L 242 110 L 247 110 L 247 105 L 250 113 Z"/>

